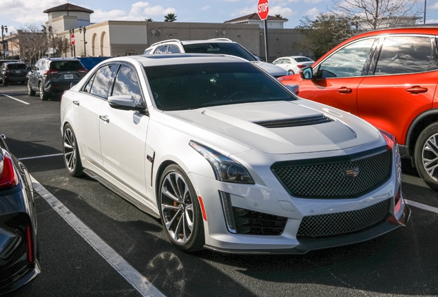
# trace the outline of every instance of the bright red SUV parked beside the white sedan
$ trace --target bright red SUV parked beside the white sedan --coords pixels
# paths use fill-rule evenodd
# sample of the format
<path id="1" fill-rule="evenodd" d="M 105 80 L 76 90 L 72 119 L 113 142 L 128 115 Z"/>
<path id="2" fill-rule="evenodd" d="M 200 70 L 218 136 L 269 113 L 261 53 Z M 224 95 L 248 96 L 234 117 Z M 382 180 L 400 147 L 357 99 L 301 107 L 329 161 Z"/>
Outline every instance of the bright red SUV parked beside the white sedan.
<path id="1" fill-rule="evenodd" d="M 300 74 L 284 76 L 300 97 L 331 105 L 397 137 L 402 157 L 438 190 L 438 26 L 352 37 Z"/>

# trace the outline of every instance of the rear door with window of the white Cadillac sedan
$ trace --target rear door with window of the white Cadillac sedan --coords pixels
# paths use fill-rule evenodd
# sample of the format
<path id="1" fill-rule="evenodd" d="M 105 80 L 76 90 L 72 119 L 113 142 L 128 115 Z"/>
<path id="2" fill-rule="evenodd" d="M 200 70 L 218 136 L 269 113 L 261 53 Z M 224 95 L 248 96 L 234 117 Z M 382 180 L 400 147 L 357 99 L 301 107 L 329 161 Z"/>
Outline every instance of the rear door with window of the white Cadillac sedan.
<path id="1" fill-rule="evenodd" d="M 110 82 L 116 64 L 103 65 L 96 69 L 79 93 L 72 94 L 74 131 L 83 157 L 88 162 L 103 168 L 99 124 L 102 105 L 107 99 Z"/>

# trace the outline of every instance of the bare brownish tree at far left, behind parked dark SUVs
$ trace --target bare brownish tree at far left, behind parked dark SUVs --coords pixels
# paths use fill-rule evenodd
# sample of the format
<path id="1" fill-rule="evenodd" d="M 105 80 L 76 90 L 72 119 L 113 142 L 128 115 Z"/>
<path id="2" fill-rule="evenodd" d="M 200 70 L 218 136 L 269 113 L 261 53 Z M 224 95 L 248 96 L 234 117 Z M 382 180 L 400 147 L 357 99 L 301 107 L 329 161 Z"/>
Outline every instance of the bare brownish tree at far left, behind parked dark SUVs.
<path id="1" fill-rule="evenodd" d="M 47 34 L 38 25 L 21 28 L 12 42 L 19 47 L 21 58 L 28 60 L 29 65 L 48 51 Z"/>

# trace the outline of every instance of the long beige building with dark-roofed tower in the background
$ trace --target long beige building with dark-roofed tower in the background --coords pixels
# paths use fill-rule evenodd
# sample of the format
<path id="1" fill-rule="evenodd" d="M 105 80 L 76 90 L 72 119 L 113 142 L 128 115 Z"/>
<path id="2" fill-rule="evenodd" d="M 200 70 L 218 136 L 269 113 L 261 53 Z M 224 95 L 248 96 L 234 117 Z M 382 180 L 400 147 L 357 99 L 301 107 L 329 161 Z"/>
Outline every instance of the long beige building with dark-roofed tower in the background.
<path id="1" fill-rule="evenodd" d="M 167 39 L 194 40 L 227 38 L 240 43 L 253 54 L 264 58 L 264 30 L 260 19 L 242 17 L 225 23 L 180 23 L 147 21 L 104 21 L 90 23 L 92 10 L 67 3 L 44 11 L 48 13 L 48 26 L 56 36 L 75 37 L 74 48 L 65 56 L 123 56 L 143 54 L 143 51 L 158 41 Z M 258 18 L 258 17 L 257 17 Z M 245 21 L 248 19 L 248 21 Z M 270 19 L 270 20 L 269 20 Z M 293 29 L 283 29 L 286 19 L 269 17 L 269 61 L 280 56 L 308 52 L 295 49 L 293 44 L 300 34 Z M 85 30 L 84 30 L 85 28 Z"/>

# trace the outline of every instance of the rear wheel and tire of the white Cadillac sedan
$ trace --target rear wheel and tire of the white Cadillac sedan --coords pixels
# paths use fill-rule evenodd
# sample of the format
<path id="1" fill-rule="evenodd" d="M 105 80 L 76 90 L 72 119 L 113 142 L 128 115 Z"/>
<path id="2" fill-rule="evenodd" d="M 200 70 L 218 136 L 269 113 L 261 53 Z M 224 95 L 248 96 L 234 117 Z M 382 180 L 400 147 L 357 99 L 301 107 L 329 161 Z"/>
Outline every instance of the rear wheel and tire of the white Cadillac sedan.
<path id="1" fill-rule="evenodd" d="M 83 175 L 83 166 L 79 155 L 78 142 L 72 126 L 66 124 L 63 131 L 63 159 L 68 173 L 74 177 Z"/>

